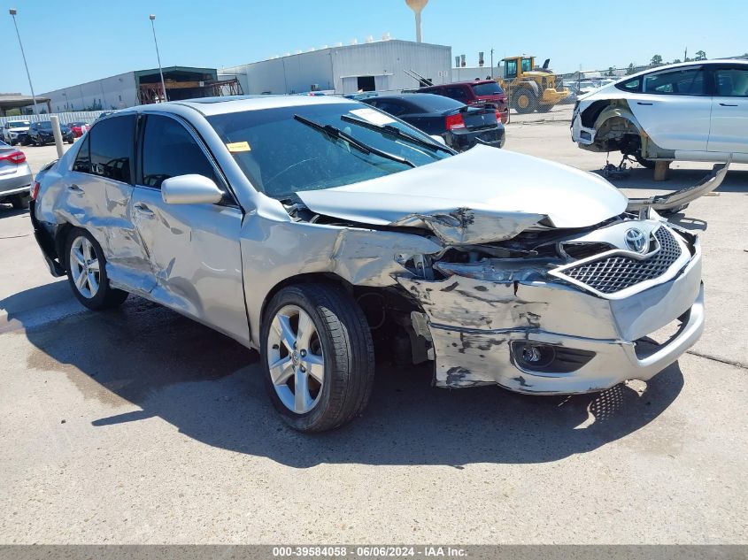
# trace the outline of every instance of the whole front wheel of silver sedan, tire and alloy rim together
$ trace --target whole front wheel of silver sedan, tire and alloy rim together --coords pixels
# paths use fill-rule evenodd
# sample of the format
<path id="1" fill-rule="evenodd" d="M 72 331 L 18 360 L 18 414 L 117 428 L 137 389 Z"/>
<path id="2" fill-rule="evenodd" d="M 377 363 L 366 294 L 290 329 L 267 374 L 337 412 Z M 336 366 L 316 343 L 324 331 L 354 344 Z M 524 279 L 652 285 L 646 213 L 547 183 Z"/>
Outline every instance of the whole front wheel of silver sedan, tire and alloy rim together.
<path id="1" fill-rule="evenodd" d="M 267 391 L 289 426 L 324 432 L 366 408 L 374 344 L 363 311 L 342 288 L 281 289 L 267 306 L 260 336 Z"/>

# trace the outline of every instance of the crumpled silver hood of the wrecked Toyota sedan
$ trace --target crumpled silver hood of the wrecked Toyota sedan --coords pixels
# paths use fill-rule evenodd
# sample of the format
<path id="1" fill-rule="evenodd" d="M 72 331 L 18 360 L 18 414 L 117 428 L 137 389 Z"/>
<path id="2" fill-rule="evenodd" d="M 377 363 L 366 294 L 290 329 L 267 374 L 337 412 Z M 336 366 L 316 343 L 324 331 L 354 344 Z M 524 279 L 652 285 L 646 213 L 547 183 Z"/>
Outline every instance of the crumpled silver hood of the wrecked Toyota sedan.
<path id="1" fill-rule="evenodd" d="M 297 193 L 313 212 L 374 226 L 428 227 L 443 241 L 510 239 L 544 220 L 598 224 L 627 198 L 598 175 L 488 146 L 401 173 Z"/>

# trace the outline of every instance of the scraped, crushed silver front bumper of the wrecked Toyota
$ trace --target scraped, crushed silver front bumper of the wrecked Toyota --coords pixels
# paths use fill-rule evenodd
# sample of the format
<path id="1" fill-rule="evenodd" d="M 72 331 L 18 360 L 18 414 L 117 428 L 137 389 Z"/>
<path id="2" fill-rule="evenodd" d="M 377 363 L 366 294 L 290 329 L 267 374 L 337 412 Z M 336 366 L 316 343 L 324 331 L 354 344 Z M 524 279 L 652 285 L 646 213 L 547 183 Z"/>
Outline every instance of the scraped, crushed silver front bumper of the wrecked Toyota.
<path id="1" fill-rule="evenodd" d="M 520 393 L 574 394 L 649 380 L 698 341 L 704 290 L 698 239 L 672 280 L 607 299 L 554 282 L 493 282 L 453 275 L 398 279 L 425 311 L 437 387 L 497 384 Z M 643 341 L 680 319 L 666 343 Z M 422 324 L 423 322 L 421 322 Z M 415 322 L 414 322 L 415 324 Z M 551 349 L 542 367 L 521 349 Z"/>

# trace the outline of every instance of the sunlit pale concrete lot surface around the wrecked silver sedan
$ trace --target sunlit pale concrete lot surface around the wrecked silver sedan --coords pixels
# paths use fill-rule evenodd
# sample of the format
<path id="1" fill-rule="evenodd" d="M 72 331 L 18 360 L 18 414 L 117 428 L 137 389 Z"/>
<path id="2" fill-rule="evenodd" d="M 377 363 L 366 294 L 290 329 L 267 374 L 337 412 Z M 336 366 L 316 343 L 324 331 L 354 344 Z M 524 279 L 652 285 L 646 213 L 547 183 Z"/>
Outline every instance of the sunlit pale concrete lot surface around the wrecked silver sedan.
<path id="1" fill-rule="evenodd" d="M 505 148 L 599 169 L 570 111 L 514 117 Z M 34 169 L 54 150 L 25 149 Z M 711 165 L 673 167 L 616 183 L 642 196 Z M 83 311 L 6 206 L 0 542 L 744 543 L 746 194 L 734 165 L 675 218 L 702 232 L 706 333 L 649 383 L 528 397 L 380 364 L 366 415 L 314 437 L 234 341 L 135 297 Z"/>

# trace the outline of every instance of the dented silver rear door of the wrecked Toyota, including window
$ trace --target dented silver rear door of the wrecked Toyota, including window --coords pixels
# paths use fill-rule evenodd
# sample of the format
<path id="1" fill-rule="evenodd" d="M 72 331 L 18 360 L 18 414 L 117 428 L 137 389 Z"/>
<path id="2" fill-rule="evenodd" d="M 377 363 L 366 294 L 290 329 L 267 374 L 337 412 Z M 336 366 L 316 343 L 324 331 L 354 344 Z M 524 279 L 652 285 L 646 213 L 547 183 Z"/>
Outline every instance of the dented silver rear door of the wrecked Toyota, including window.
<path id="1" fill-rule="evenodd" d="M 62 207 L 101 245 L 109 279 L 147 294 L 155 281 L 129 213 L 135 121 L 135 113 L 130 113 L 104 119 L 90 130 L 66 175 Z"/>

